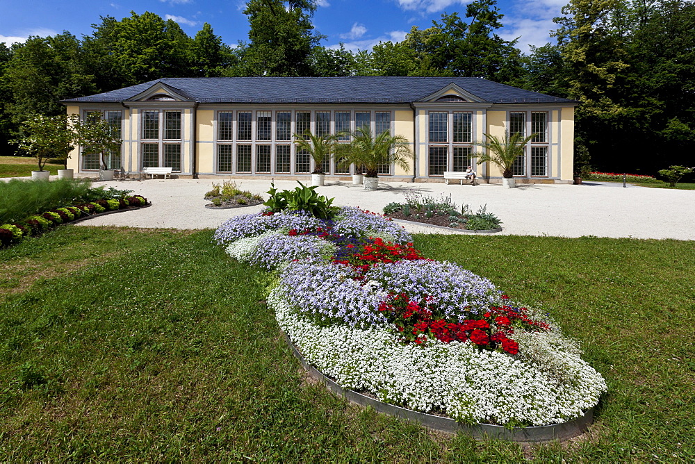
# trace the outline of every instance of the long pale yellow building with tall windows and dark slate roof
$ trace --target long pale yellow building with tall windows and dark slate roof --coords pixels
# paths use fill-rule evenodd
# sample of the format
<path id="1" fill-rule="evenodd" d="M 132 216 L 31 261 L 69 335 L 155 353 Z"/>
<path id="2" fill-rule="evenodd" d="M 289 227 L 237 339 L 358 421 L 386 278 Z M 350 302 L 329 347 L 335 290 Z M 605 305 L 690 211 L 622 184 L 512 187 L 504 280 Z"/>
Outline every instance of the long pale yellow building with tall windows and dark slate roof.
<path id="1" fill-rule="evenodd" d="M 569 183 L 575 101 L 477 78 L 164 78 L 63 101 L 67 113 L 106 119 L 122 140 L 108 168 L 131 176 L 171 167 L 180 177 L 302 179 L 317 169 L 295 134 L 349 133 L 368 126 L 411 142 L 409 169 L 382 166 L 381 181 L 443 181 L 473 166 L 496 183 L 496 165 L 477 165 L 484 134 L 534 134 L 514 164 L 521 182 Z M 350 136 L 341 138 L 349 143 Z M 99 155 L 76 148 L 68 168 L 97 176 Z M 354 167 L 330 160 L 327 179 Z"/>

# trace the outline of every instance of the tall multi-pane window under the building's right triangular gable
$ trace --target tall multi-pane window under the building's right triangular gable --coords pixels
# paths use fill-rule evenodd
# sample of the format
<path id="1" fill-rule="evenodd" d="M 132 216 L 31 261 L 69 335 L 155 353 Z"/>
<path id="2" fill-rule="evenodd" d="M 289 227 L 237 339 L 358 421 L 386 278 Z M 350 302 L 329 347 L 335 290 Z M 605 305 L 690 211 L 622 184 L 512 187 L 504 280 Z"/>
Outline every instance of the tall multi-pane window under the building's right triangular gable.
<path id="1" fill-rule="evenodd" d="M 430 111 L 428 173 L 443 176 L 444 171 L 465 171 L 473 166 L 473 113 L 468 111 Z"/>

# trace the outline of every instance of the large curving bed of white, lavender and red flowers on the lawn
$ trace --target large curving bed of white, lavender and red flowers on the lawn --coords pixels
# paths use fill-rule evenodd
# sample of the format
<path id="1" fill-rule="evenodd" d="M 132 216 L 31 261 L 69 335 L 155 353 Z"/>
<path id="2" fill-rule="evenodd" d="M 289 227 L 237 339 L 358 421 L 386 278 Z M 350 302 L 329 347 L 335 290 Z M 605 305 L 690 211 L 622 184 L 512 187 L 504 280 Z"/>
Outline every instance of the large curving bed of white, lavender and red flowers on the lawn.
<path id="1" fill-rule="evenodd" d="M 596 406 L 602 376 L 548 315 L 491 281 L 427 260 L 358 208 L 238 216 L 215 239 L 275 269 L 268 297 L 304 359 L 339 386 L 466 424 L 559 424 Z"/>

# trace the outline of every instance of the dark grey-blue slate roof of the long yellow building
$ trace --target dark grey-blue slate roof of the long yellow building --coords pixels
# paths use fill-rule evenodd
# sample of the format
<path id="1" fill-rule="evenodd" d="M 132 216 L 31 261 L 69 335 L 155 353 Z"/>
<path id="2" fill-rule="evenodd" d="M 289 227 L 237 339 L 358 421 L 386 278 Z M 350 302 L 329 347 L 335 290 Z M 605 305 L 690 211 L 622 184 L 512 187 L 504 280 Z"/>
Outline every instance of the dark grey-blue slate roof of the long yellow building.
<path id="1" fill-rule="evenodd" d="M 162 82 L 198 103 L 414 103 L 455 83 L 489 103 L 576 103 L 475 77 L 167 77 L 63 103 L 120 103 Z"/>

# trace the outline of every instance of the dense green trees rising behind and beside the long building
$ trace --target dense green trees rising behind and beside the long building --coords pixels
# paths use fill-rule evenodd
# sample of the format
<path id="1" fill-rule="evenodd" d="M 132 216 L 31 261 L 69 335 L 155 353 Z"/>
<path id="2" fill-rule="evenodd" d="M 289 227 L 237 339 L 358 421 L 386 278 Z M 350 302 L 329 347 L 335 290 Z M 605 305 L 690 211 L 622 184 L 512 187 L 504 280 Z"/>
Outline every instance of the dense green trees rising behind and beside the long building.
<path id="1" fill-rule="evenodd" d="M 694 3 L 571 0 L 555 19 L 557 42 L 528 54 L 496 33 L 495 0 L 358 53 L 323 47 L 315 10 L 314 0 L 250 0 L 249 40 L 236 47 L 210 24 L 190 37 L 154 13 L 101 17 L 82 38 L 0 43 L 0 154 L 15 152 L 8 140 L 27 115 L 64 113 L 60 99 L 160 77 L 473 76 L 580 101 L 577 170 L 695 165 Z"/>

